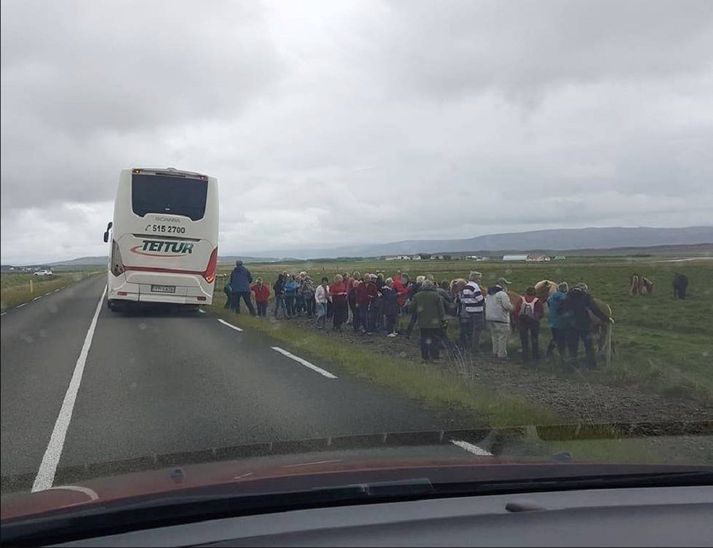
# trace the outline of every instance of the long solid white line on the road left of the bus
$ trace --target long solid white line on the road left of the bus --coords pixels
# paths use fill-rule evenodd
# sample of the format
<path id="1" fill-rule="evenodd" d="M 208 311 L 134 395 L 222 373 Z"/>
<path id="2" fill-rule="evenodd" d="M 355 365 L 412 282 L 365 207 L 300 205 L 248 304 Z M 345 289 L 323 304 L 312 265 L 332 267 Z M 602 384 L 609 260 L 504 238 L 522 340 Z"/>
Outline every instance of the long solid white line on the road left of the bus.
<path id="1" fill-rule="evenodd" d="M 47 445 L 47 450 L 45 451 L 45 454 L 42 457 L 42 463 L 40 464 L 40 469 L 37 471 L 37 477 L 35 478 L 35 482 L 32 484 L 33 493 L 35 491 L 43 491 L 45 489 L 49 489 L 50 487 L 52 487 L 52 483 L 54 482 L 54 475 L 57 472 L 57 465 L 59 464 L 59 459 L 62 456 L 64 440 L 67 436 L 69 422 L 72 420 L 74 403 L 77 401 L 77 393 L 79 392 L 79 385 L 82 382 L 84 366 L 87 363 L 87 355 L 89 354 L 89 348 L 92 346 L 94 330 L 97 327 L 99 312 L 101 312 L 105 296 L 106 286 L 104 286 L 102 296 L 99 299 L 99 302 L 97 303 L 97 309 L 94 312 L 92 323 L 89 324 L 89 330 L 87 331 L 87 336 L 84 338 L 84 345 L 82 346 L 82 351 L 79 353 L 79 358 L 77 358 L 77 364 L 74 366 L 74 373 L 72 373 L 72 379 L 69 381 L 67 393 L 64 395 L 62 408 L 59 410 L 59 415 L 57 415 L 57 421 L 54 424 L 54 429 L 52 430 L 52 435 L 50 436 L 50 441 Z"/>

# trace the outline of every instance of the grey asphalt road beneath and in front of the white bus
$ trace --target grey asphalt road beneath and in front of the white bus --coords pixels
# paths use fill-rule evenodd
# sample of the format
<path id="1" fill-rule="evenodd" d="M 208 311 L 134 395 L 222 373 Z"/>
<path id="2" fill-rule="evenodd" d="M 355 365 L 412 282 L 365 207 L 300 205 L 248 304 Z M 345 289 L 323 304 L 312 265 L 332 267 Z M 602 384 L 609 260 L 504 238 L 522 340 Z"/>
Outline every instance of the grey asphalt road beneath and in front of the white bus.
<path id="1" fill-rule="evenodd" d="M 237 332 L 208 314 L 126 316 L 102 306 L 66 436 L 51 444 L 104 282 L 84 280 L 2 317 L 3 489 L 29 489 L 48 444 L 62 469 L 276 440 L 466 427 L 364 381 L 328 378 L 273 350 L 264 335 Z"/>

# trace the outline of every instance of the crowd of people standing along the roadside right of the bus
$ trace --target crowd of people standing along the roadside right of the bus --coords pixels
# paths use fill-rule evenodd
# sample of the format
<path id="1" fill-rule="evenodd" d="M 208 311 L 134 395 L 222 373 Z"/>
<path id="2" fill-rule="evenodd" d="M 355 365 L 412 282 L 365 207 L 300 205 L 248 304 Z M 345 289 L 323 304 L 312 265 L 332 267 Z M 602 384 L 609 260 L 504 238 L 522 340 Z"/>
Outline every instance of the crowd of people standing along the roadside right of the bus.
<path id="1" fill-rule="evenodd" d="M 242 261 L 237 261 L 224 290 L 226 308 L 236 313 L 243 301 L 251 315 L 265 317 L 272 295 L 274 318 L 309 318 L 317 329 L 326 329 L 330 321 L 337 332 L 350 328 L 365 336 L 411 338 L 418 327 L 424 361 L 438 361 L 443 350 L 477 353 L 484 332 L 490 334 L 493 357 L 506 360 L 508 339 L 516 332 L 522 360 L 536 363 L 541 358 L 540 324 L 546 316 L 552 333 L 547 356 L 557 350 L 561 360 L 567 357 L 576 365 L 581 341 L 586 366 L 596 366 L 592 316 L 603 322 L 611 320 L 596 306 L 586 284 L 570 289 L 561 282 L 546 299 L 540 299 L 534 287 L 512 299 L 511 284 L 505 278 L 485 291 L 481 284 L 480 272 L 471 272 L 468 280 L 455 286 L 448 280 L 437 283 L 430 274 L 412 280 L 400 271 L 392 277 L 382 272 L 344 272 L 331 280 L 322 277 L 319 283 L 306 272 L 282 272 L 270 286 L 262 278 L 253 280 Z M 458 322 L 457 341 L 448 337 L 451 319 Z"/>

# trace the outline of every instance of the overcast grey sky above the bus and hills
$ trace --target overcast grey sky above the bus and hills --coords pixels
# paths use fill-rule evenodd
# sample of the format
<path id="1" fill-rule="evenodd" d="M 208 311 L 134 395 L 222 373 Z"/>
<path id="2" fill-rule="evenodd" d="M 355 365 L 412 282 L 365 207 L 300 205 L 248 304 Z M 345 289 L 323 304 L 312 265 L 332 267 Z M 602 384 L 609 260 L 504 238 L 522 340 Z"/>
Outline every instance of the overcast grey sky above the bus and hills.
<path id="1" fill-rule="evenodd" d="M 713 1 L 0 5 L 3 263 L 106 254 L 134 166 L 222 254 L 713 220 Z"/>

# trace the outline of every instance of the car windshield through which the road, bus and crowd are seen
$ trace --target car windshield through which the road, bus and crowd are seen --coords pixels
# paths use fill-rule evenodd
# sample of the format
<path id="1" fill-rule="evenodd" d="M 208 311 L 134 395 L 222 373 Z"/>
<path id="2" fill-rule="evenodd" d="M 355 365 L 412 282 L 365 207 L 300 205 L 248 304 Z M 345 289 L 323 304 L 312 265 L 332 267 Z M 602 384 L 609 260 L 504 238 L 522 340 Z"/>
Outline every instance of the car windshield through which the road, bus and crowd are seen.
<path id="1" fill-rule="evenodd" d="M 713 466 L 713 2 L 1 10 L 3 521 Z"/>

